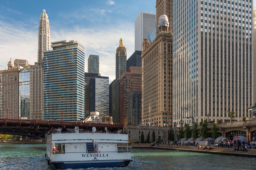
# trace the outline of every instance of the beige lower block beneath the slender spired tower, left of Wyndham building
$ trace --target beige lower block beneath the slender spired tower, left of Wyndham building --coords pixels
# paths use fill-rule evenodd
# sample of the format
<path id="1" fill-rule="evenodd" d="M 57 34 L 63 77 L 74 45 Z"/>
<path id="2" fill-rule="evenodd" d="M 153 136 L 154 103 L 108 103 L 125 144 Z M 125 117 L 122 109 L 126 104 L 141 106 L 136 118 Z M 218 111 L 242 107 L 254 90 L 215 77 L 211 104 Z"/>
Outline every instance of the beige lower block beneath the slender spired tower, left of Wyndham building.
<path id="1" fill-rule="evenodd" d="M 30 67 L 30 119 L 43 120 L 43 66 Z"/>

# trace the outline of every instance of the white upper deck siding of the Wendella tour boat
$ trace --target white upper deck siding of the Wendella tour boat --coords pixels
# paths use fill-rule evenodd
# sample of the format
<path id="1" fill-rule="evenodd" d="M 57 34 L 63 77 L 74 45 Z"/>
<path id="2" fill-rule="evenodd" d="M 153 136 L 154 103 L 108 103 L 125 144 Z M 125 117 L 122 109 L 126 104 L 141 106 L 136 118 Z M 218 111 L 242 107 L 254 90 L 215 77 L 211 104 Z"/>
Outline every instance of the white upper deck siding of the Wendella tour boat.
<path id="1" fill-rule="evenodd" d="M 104 132 L 53 132 L 47 136 L 47 143 L 128 143 L 128 134 Z"/>

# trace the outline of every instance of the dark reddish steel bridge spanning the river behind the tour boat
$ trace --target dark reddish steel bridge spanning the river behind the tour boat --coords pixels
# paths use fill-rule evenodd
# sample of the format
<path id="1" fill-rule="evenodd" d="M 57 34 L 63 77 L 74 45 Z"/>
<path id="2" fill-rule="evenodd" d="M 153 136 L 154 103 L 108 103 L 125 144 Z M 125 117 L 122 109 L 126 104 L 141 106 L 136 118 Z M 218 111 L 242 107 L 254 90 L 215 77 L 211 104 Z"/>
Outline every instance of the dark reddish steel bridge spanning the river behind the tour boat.
<path id="1" fill-rule="evenodd" d="M 64 121 L 38 121 L 24 119 L 0 119 L 0 134 L 20 135 L 28 137 L 45 138 L 45 133 L 50 129 L 66 126 L 68 129 L 73 129 L 76 126 L 85 131 L 91 131 L 92 127 L 97 130 L 105 130 L 108 128 L 111 132 L 116 132 L 118 128 L 123 129 L 124 125 L 112 124 L 95 124 L 95 123 L 75 123 Z"/>

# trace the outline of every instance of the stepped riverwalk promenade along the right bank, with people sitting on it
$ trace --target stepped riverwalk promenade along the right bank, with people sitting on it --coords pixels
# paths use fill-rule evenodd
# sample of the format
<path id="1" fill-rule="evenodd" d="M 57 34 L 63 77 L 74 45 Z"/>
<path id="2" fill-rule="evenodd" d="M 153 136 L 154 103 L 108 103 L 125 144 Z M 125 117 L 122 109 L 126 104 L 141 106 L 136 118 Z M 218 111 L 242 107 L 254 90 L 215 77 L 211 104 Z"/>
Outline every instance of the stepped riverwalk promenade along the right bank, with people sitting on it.
<path id="1" fill-rule="evenodd" d="M 234 148 L 219 148 L 212 147 L 212 150 L 198 149 L 195 146 L 176 146 L 172 145 L 169 147 L 168 145 L 159 145 L 151 146 L 151 143 L 133 143 L 129 145 L 133 148 L 154 148 L 154 149 L 169 149 L 169 150 L 180 150 L 187 152 L 200 152 L 200 153 L 211 153 L 211 154 L 223 154 L 223 155 L 233 155 L 233 156 L 247 156 L 247 157 L 256 157 L 256 149 L 248 149 L 248 151 L 234 151 Z"/>

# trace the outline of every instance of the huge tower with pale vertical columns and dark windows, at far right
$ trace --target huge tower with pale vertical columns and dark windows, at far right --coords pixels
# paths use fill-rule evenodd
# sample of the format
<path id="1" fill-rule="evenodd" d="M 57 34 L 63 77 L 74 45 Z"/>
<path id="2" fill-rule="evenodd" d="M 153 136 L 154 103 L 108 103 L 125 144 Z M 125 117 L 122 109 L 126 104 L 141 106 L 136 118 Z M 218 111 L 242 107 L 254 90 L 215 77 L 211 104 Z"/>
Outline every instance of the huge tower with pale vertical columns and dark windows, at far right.
<path id="1" fill-rule="evenodd" d="M 235 120 L 248 117 L 251 0 L 173 3 L 174 124 L 201 122 L 207 115 L 209 121 L 227 122 L 231 111 Z"/>

